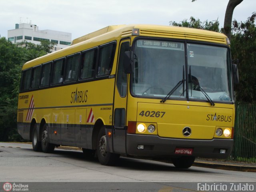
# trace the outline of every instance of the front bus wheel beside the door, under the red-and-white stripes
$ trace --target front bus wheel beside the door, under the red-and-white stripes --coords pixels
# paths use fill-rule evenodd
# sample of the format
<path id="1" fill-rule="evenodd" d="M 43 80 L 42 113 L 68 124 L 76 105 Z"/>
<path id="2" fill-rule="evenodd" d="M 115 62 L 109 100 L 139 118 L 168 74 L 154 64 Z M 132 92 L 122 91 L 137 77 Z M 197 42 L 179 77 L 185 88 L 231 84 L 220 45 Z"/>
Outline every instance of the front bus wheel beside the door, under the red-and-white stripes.
<path id="1" fill-rule="evenodd" d="M 114 154 L 107 151 L 107 140 L 105 127 L 100 128 L 97 140 L 97 156 L 100 164 L 102 165 L 113 165 L 119 158 L 119 154 Z"/>

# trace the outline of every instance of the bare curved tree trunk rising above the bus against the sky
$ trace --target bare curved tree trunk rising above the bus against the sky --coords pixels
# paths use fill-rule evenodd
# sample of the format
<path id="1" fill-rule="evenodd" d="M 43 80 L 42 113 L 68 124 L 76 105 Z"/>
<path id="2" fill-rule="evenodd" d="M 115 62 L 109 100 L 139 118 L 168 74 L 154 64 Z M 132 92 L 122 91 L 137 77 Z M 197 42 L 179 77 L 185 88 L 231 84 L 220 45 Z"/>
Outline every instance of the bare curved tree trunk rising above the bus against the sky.
<path id="1" fill-rule="evenodd" d="M 231 26 L 232 26 L 232 15 L 234 8 L 240 4 L 243 0 L 229 0 L 226 8 L 226 14 L 224 19 L 224 34 L 231 39 Z"/>

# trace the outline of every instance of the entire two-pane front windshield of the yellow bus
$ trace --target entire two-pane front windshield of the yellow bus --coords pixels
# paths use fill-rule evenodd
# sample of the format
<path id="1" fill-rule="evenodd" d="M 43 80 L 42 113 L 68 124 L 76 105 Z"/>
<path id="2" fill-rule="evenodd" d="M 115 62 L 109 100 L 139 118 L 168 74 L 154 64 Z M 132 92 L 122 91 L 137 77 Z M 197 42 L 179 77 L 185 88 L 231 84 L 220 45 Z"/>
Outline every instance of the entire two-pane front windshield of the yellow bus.
<path id="1" fill-rule="evenodd" d="M 214 102 L 232 102 L 228 48 L 159 40 L 135 42 L 134 96 L 162 99 L 180 81 L 168 98 L 207 101 L 206 92 Z"/>

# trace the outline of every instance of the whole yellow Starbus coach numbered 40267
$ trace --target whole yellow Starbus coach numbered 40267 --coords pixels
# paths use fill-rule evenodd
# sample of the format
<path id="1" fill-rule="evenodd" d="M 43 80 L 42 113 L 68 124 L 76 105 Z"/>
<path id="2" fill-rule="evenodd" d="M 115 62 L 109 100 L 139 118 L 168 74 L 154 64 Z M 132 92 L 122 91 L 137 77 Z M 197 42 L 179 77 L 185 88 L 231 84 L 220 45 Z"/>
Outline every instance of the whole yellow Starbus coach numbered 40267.
<path id="1" fill-rule="evenodd" d="M 108 26 L 24 64 L 18 132 L 34 151 L 82 148 L 103 165 L 120 155 L 227 158 L 236 66 L 224 34 Z"/>

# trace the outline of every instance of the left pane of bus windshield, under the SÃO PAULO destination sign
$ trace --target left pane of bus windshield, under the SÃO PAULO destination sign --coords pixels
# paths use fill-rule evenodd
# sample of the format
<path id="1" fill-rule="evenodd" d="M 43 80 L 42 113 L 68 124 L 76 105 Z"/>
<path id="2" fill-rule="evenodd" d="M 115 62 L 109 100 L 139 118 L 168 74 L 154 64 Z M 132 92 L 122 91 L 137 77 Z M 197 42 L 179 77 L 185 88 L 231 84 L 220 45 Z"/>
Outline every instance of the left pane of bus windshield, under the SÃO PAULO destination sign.
<path id="1" fill-rule="evenodd" d="M 185 75 L 184 44 L 137 40 L 134 49 L 132 92 L 144 97 L 165 97 Z M 186 98 L 184 82 L 171 96 Z"/>

